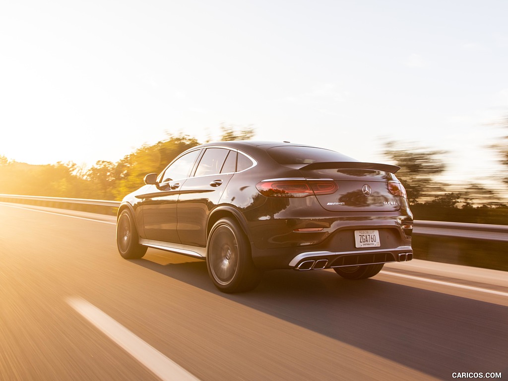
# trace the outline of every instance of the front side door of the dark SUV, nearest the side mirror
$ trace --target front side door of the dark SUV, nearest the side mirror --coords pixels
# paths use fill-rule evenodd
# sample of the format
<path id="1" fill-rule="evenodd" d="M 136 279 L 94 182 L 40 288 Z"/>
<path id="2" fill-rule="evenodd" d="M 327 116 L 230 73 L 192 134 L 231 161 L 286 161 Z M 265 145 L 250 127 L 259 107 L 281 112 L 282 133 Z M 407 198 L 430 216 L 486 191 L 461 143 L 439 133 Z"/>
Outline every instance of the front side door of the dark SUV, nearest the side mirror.
<path id="1" fill-rule="evenodd" d="M 179 243 L 177 201 L 181 187 L 194 169 L 201 150 L 176 158 L 158 177 L 158 186 L 143 195 L 143 228 L 147 239 Z"/>

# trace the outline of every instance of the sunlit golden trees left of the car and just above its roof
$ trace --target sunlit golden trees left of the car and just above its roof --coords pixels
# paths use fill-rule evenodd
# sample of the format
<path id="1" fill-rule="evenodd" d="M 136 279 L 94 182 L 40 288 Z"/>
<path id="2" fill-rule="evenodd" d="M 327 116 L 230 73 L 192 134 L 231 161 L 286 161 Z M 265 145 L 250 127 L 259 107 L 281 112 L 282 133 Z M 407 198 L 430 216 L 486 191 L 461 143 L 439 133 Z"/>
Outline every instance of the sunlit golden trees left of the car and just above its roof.
<path id="1" fill-rule="evenodd" d="M 250 127 L 237 131 L 234 126 L 221 125 L 220 140 L 248 140 L 253 135 Z M 0 155 L 0 194 L 120 201 L 143 185 L 147 173 L 160 173 L 181 152 L 199 144 L 188 135 L 168 134 L 116 163 L 101 160 L 89 169 L 73 162 L 30 165 Z"/>

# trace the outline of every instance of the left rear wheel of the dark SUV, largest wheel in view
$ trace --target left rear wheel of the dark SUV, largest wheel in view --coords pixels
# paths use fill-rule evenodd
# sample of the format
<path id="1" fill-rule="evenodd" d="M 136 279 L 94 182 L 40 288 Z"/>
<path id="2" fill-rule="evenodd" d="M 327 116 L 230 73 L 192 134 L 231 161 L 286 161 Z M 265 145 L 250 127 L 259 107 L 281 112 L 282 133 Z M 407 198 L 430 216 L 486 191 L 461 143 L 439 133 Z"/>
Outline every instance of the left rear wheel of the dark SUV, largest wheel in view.
<path id="1" fill-rule="evenodd" d="M 208 274 L 218 290 L 250 291 L 261 281 L 261 271 L 252 262 L 247 237 L 233 219 L 221 218 L 213 225 L 207 248 Z"/>

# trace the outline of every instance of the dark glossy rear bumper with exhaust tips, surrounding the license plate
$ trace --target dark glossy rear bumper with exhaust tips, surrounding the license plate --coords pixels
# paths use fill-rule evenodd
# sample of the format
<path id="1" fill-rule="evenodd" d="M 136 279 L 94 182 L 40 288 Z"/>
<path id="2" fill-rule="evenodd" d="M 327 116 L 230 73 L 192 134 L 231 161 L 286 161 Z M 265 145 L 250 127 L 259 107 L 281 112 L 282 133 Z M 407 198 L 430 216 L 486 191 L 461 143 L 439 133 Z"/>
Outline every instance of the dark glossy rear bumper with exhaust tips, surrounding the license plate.
<path id="1" fill-rule="evenodd" d="M 312 197 L 278 205 L 282 201 L 269 199 L 243 214 L 252 260 L 260 269 L 317 270 L 412 259 L 412 215 L 405 208 L 336 213 L 324 210 Z M 357 247 L 356 230 L 377 230 L 379 246 Z"/>

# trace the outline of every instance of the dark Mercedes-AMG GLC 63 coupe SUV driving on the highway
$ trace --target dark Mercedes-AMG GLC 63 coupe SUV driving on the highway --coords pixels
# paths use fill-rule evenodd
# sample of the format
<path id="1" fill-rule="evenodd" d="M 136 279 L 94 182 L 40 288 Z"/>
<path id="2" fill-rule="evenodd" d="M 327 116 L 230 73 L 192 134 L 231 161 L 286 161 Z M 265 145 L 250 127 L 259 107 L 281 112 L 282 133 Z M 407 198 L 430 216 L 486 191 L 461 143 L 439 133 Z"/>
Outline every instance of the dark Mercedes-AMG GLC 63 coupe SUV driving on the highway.
<path id="1" fill-rule="evenodd" d="M 287 142 L 203 144 L 123 199 L 118 250 L 125 259 L 148 247 L 201 258 L 226 293 L 255 288 L 271 269 L 369 278 L 413 256 L 398 169 Z"/>

